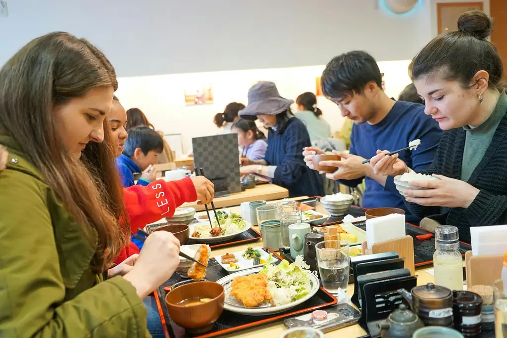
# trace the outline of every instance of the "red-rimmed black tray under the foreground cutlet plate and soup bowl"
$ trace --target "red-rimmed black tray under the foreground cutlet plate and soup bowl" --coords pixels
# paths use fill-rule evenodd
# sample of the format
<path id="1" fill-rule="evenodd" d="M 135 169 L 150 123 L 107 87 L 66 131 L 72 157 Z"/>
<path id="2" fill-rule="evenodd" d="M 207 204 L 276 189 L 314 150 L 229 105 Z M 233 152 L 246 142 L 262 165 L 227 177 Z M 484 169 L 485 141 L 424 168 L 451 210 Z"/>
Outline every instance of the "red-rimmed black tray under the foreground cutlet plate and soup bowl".
<path id="1" fill-rule="evenodd" d="M 264 248 L 264 250 L 273 254 L 278 260 L 281 260 L 281 257 L 276 254 L 276 252 L 272 251 L 269 248 Z M 279 262 L 279 261 L 278 261 Z M 210 281 L 219 280 L 222 277 L 227 276 L 227 271 L 216 262 L 214 259 L 210 259 L 208 263 L 208 273 L 206 274 L 206 279 Z M 164 290 L 164 287 L 168 287 L 174 281 L 167 281 L 162 284 L 157 290 L 155 290 L 155 301 L 157 302 L 157 307 L 159 310 L 160 318 L 162 321 L 162 328 L 164 330 L 165 336 L 167 338 L 186 338 L 188 335 L 185 334 L 185 329 L 177 326 L 169 317 L 167 312 L 167 306 L 165 305 L 165 295 L 167 291 Z M 224 310 L 224 313 L 219 318 L 219 320 L 215 323 L 215 326 L 211 329 L 211 331 L 204 333 L 202 335 L 197 336 L 198 338 L 210 338 L 219 336 L 222 334 L 239 331 L 247 328 L 256 327 L 259 325 L 271 323 L 283 318 L 301 315 L 303 313 L 311 312 L 317 309 L 321 309 L 327 306 L 335 305 L 338 303 L 338 300 L 325 291 L 322 287 L 319 288 L 317 293 L 305 303 L 288 310 L 284 313 L 270 316 L 247 316 L 240 315 L 233 312 L 229 312 Z"/>

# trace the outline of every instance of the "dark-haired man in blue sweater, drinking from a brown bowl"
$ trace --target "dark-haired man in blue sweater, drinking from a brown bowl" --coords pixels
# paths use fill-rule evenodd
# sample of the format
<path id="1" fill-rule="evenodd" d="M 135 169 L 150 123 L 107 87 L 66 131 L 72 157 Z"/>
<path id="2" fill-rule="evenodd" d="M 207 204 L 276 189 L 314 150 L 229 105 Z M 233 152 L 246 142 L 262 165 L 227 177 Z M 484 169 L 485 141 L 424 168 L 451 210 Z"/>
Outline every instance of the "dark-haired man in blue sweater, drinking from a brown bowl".
<path id="1" fill-rule="evenodd" d="M 382 90 L 377 62 L 366 52 L 335 57 L 325 67 L 321 81 L 323 94 L 338 105 L 343 117 L 354 122 L 350 153 L 339 153 L 341 161 L 321 162 L 338 168 L 328 178 L 350 187 L 366 179 L 365 208 L 401 208 L 407 222 L 418 224 L 420 219 L 410 214 L 393 178 L 376 175 L 369 164 L 361 161 L 375 156 L 377 149 L 397 150 L 420 139 L 416 150 L 405 150 L 393 157 L 402 159 L 416 172 L 425 170 L 433 161 L 442 135 L 438 123 L 424 114 L 423 105 L 390 99 Z M 309 167 L 313 168 L 313 156 L 319 153 L 320 149 L 305 148 L 303 155 Z"/>

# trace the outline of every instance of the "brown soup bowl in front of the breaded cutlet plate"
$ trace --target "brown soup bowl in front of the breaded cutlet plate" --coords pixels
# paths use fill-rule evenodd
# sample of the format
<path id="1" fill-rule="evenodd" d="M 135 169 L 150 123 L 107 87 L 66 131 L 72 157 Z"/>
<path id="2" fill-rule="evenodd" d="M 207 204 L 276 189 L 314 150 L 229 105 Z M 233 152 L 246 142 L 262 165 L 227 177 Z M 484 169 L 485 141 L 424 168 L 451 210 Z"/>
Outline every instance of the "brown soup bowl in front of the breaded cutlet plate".
<path id="1" fill-rule="evenodd" d="M 196 297 L 210 298 L 211 301 L 193 306 L 178 305 Z M 224 311 L 224 302 L 224 287 L 215 282 L 182 285 L 171 290 L 165 297 L 171 319 L 191 335 L 211 330 Z"/>

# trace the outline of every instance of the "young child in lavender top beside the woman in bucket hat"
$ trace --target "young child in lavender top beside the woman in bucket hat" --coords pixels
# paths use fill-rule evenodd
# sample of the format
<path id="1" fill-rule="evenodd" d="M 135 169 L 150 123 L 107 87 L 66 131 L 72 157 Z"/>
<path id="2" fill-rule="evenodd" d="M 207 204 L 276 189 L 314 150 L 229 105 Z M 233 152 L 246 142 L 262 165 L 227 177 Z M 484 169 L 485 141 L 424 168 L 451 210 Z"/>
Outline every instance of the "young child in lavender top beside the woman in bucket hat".
<path id="1" fill-rule="evenodd" d="M 268 143 L 266 135 L 257 128 L 255 121 L 239 118 L 232 124 L 231 132 L 238 134 L 241 157 L 254 161 L 264 158 Z"/>

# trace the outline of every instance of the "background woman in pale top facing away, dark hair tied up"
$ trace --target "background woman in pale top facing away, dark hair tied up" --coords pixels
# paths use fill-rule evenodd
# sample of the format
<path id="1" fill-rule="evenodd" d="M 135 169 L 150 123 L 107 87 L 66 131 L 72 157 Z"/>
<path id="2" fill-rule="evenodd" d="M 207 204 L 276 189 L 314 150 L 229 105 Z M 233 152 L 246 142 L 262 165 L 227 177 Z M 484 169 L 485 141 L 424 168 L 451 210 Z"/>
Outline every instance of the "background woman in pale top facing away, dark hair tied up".
<path id="1" fill-rule="evenodd" d="M 296 99 L 298 112 L 296 117 L 306 125 L 310 140 L 326 140 L 331 138 L 331 126 L 322 118 L 322 110 L 317 108 L 317 98 L 315 94 L 306 92 Z"/>

